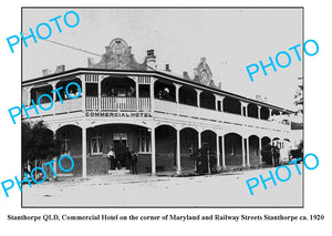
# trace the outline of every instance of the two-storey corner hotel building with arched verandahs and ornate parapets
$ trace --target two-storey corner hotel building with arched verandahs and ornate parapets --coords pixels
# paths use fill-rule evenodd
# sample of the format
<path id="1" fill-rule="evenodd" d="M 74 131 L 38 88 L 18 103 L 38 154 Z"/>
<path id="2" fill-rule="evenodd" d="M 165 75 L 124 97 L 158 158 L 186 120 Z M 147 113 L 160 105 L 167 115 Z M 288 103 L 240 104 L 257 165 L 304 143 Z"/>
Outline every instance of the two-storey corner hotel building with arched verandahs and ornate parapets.
<path id="1" fill-rule="evenodd" d="M 53 107 L 40 114 L 30 110 L 30 120 L 42 119 L 63 137 L 62 152 L 74 158 L 74 175 L 106 174 L 111 146 L 117 156 L 125 147 L 137 152 L 138 172 L 153 175 L 194 170 L 190 154 L 205 145 L 217 170 L 261 165 L 260 150 L 272 141 L 287 148 L 291 111 L 220 90 L 204 58 L 190 79 L 186 72 L 172 74 L 168 65 L 157 70 L 154 50 L 142 64 L 131 50 L 114 39 L 98 63 L 89 60 L 87 68 L 69 71 L 59 66 L 53 74 L 44 70 L 42 78 L 22 82 L 27 106 L 41 94 L 53 96 Z M 61 90 L 61 104 L 51 91 L 70 82 L 80 84 L 81 96 L 71 100 Z"/>

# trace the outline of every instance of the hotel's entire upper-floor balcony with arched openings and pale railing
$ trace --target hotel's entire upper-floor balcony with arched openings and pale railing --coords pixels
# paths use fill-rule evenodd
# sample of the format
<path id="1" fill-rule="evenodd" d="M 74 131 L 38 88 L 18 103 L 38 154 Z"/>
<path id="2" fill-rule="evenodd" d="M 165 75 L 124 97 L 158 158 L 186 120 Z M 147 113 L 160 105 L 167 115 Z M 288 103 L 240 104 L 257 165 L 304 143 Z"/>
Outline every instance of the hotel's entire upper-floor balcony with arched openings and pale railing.
<path id="1" fill-rule="evenodd" d="M 75 82 L 82 88 L 80 98 L 70 99 L 66 94 L 66 92 L 73 95 L 77 94 L 79 91 L 75 86 L 69 86 L 66 91 L 64 89 L 59 90 L 59 94 L 51 93 L 54 89 L 66 88 L 71 82 Z M 53 98 L 53 107 L 49 111 L 39 110 L 40 114 L 31 109 L 29 110 L 30 117 L 77 111 L 138 111 L 152 112 L 153 115 L 176 115 L 219 122 L 219 124 L 246 125 L 268 130 L 284 130 L 287 129 L 286 125 L 289 125 L 282 115 L 286 112 L 268 104 L 152 76 L 113 75 L 101 79 L 101 76 L 83 75 L 59 80 L 52 84 L 32 86 L 28 93 L 25 91 L 24 104 L 27 105 L 29 99 L 37 103 L 41 94 L 49 94 Z M 60 100 L 59 96 L 62 99 Z M 46 96 L 42 98 L 40 103 L 43 107 L 51 106 Z"/>

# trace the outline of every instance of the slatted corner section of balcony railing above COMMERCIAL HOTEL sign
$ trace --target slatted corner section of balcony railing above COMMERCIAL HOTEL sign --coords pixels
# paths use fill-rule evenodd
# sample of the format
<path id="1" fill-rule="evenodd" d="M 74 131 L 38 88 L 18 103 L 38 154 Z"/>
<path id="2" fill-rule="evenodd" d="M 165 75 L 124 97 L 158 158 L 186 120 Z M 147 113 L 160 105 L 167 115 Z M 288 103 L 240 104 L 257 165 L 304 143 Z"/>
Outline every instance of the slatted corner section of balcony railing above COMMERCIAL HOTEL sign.
<path id="1" fill-rule="evenodd" d="M 101 104 L 102 111 L 151 111 L 149 98 L 117 98 L 117 96 L 103 96 L 98 103 L 97 96 L 86 96 L 86 110 L 98 110 Z"/>

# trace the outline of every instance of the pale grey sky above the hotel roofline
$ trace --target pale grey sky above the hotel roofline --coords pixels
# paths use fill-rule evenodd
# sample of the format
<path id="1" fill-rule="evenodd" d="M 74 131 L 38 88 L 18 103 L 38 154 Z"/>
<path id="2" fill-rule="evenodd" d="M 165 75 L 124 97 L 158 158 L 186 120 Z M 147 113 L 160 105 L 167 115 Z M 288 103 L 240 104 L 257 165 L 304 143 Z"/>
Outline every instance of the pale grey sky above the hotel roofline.
<path id="1" fill-rule="evenodd" d="M 63 22 L 69 10 L 80 16 L 75 28 Z M 58 16 L 62 32 L 50 23 L 49 40 L 54 42 L 103 54 L 105 45 L 122 38 L 138 63 L 154 49 L 159 70 L 169 64 L 173 73 L 187 71 L 191 78 L 205 57 L 215 84 L 220 82 L 222 90 L 251 99 L 266 96 L 270 104 L 295 110 L 293 96 L 298 78 L 302 78 L 302 62 L 289 48 L 302 43 L 302 9 L 23 9 L 23 32 Z M 86 68 L 87 58 L 94 62 L 101 59 L 40 39 L 27 42 L 23 81 L 41 76 L 43 69 L 54 72 L 60 64 L 66 70 Z M 280 51 L 289 52 L 290 65 L 281 69 L 276 64 L 277 72 L 267 68 L 267 76 L 260 69 L 251 82 L 246 66 L 260 60 L 268 64 L 269 57 L 274 61 Z M 301 48 L 299 52 L 302 54 Z M 286 63 L 284 58 L 280 62 Z"/>

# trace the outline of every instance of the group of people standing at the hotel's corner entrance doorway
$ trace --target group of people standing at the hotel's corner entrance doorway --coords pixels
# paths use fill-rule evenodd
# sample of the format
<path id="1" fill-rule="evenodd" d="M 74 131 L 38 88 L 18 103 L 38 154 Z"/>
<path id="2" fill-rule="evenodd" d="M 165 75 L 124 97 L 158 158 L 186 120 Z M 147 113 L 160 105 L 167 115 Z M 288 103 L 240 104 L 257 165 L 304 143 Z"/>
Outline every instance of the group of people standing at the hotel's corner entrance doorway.
<path id="1" fill-rule="evenodd" d="M 121 170 L 124 166 L 126 166 L 126 162 L 128 162 L 132 174 L 138 174 L 137 172 L 138 154 L 134 151 L 129 151 L 128 147 L 126 147 L 124 152 L 124 156 L 123 158 L 121 158 L 121 157 L 116 157 L 115 152 L 111 146 L 111 151 L 107 153 L 107 157 L 111 158 L 111 166 L 110 166 L 111 170 Z"/>

